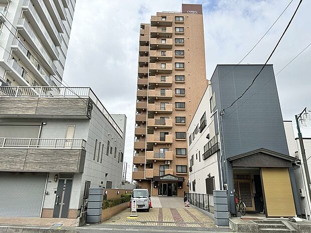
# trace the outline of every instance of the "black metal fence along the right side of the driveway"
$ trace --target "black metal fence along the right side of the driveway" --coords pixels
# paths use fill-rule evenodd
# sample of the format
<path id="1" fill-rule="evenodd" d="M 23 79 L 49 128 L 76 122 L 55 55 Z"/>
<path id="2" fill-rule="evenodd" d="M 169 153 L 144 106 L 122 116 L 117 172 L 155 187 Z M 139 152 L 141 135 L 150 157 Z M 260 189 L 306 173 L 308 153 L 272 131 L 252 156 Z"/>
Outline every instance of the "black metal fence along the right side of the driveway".
<path id="1" fill-rule="evenodd" d="M 213 195 L 193 192 L 186 192 L 185 195 L 187 195 L 190 204 L 208 212 L 214 212 Z"/>

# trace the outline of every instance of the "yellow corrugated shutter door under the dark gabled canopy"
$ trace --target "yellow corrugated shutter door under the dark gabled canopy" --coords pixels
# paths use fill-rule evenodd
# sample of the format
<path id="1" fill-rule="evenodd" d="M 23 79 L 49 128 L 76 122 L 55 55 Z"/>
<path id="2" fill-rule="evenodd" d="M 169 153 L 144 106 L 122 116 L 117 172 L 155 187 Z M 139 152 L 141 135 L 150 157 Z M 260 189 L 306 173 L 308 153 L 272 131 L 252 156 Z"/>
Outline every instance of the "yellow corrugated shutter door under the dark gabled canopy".
<path id="1" fill-rule="evenodd" d="M 288 168 L 261 168 L 268 217 L 292 217 L 296 214 Z"/>

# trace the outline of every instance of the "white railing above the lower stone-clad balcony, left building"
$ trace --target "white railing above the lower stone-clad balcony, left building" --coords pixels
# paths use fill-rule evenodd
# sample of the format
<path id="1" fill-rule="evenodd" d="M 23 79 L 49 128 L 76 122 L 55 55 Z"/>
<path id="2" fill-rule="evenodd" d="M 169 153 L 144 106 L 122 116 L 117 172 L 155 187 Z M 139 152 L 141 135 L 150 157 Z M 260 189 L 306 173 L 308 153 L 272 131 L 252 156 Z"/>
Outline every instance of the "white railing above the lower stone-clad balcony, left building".
<path id="1" fill-rule="evenodd" d="M 73 138 L 0 138 L 0 148 L 85 149 L 84 139 Z"/>

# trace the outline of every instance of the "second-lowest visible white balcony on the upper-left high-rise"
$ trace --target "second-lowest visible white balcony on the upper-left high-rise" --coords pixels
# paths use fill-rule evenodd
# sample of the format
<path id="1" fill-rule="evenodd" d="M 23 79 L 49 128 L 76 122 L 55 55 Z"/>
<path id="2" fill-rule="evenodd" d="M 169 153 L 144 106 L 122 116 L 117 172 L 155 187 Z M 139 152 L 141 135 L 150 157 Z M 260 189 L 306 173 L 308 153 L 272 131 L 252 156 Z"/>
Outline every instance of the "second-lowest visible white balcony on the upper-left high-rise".
<path id="1" fill-rule="evenodd" d="M 50 76 L 44 71 L 34 56 L 29 53 L 27 47 L 18 39 L 14 39 L 11 48 L 27 68 L 39 78 L 44 86 L 56 86 Z M 54 71 L 53 71 L 54 74 Z"/>

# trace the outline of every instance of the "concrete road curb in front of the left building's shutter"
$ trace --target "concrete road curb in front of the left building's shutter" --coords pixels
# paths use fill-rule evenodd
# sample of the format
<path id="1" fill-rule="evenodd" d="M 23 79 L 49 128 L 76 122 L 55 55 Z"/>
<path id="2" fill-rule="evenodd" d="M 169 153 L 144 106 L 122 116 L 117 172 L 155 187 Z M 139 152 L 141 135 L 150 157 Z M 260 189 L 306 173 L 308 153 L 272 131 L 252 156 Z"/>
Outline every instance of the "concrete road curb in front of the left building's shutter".
<path id="1" fill-rule="evenodd" d="M 75 228 L 40 226 L 0 226 L 0 233 L 78 233 Z"/>

